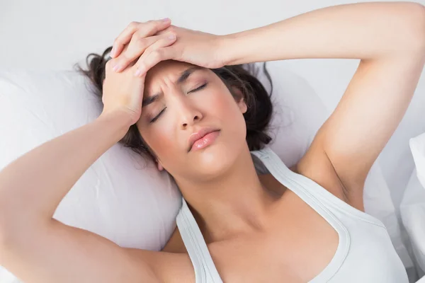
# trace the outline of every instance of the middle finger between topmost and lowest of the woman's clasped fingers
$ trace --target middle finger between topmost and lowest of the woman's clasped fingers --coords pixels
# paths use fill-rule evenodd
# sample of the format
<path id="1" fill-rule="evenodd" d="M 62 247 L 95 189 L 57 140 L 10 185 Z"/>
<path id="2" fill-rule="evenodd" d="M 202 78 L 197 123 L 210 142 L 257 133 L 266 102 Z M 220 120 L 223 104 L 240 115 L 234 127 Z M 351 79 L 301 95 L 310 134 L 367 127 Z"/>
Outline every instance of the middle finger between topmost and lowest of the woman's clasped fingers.
<path id="1" fill-rule="evenodd" d="M 171 37 L 173 35 L 173 37 Z M 113 64 L 115 64 L 114 71 L 121 71 L 128 67 L 128 64 L 135 59 L 139 58 L 145 50 L 151 45 L 154 45 L 155 42 L 161 41 L 161 47 L 172 45 L 176 40 L 176 36 L 173 33 L 165 35 L 154 35 L 149 37 L 138 37 L 134 40 L 132 39 L 125 51 L 121 52 L 118 58 L 114 58 Z"/>

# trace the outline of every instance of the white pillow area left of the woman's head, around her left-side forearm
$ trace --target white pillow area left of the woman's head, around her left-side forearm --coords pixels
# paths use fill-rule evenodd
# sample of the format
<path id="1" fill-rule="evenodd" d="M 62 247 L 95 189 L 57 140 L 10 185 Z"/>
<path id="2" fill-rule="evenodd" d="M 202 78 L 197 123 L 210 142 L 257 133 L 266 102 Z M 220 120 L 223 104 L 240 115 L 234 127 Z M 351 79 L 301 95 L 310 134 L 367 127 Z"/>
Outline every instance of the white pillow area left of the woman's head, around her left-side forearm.
<path id="1" fill-rule="evenodd" d="M 0 168 L 14 158 L 94 120 L 101 101 L 73 71 L 0 72 Z M 115 144 L 91 166 L 55 212 L 55 219 L 125 247 L 159 250 L 180 202 L 166 173 Z"/>

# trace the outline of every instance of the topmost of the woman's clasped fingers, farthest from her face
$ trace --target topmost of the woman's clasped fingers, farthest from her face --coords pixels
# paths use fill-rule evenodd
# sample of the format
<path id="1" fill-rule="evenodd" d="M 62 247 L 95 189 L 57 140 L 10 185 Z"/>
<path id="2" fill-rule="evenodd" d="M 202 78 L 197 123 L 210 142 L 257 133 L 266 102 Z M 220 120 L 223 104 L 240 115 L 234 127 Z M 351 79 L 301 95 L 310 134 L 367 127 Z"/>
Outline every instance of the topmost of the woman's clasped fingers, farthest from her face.
<path id="1" fill-rule="evenodd" d="M 130 42 L 132 35 L 138 30 L 140 30 L 140 35 L 147 37 L 149 34 L 154 35 L 158 30 L 168 28 L 170 24 L 171 20 L 169 18 L 157 21 L 147 21 L 145 23 L 131 22 L 127 28 L 125 28 L 117 38 L 115 38 L 110 56 L 113 58 L 117 57 L 123 50 L 124 45 Z M 152 31 L 154 31 L 154 33 L 152 33 Z"/>

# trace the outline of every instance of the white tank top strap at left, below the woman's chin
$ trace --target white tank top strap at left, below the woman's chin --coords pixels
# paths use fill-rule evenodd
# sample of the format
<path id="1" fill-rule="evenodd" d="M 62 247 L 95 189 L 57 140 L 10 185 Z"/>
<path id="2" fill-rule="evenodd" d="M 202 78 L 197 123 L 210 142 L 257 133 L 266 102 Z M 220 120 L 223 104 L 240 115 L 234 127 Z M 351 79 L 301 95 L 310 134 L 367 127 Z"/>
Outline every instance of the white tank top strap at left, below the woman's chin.
<path id="1" fill-rule="evenodd" d="M 207 243 L 196 223 L 195 217 L 182 197 L 182 205 L 176 217 L 177 227 L 195 270 L 196 283 L 222 283 L 212 261 Z"/>

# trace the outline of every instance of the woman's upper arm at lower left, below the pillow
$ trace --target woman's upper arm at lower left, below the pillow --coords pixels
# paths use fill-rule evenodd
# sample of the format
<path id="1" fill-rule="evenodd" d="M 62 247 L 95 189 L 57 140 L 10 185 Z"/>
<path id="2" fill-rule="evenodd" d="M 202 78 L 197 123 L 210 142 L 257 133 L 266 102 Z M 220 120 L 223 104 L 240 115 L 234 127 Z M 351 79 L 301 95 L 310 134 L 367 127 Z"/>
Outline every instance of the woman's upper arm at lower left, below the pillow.
<path id="1" fill-rule="evenodd" d="M 55 219 L 48 227 L 6 239 L 0 265 L 28 283 L 159 282 L 147 260 Z"/>

